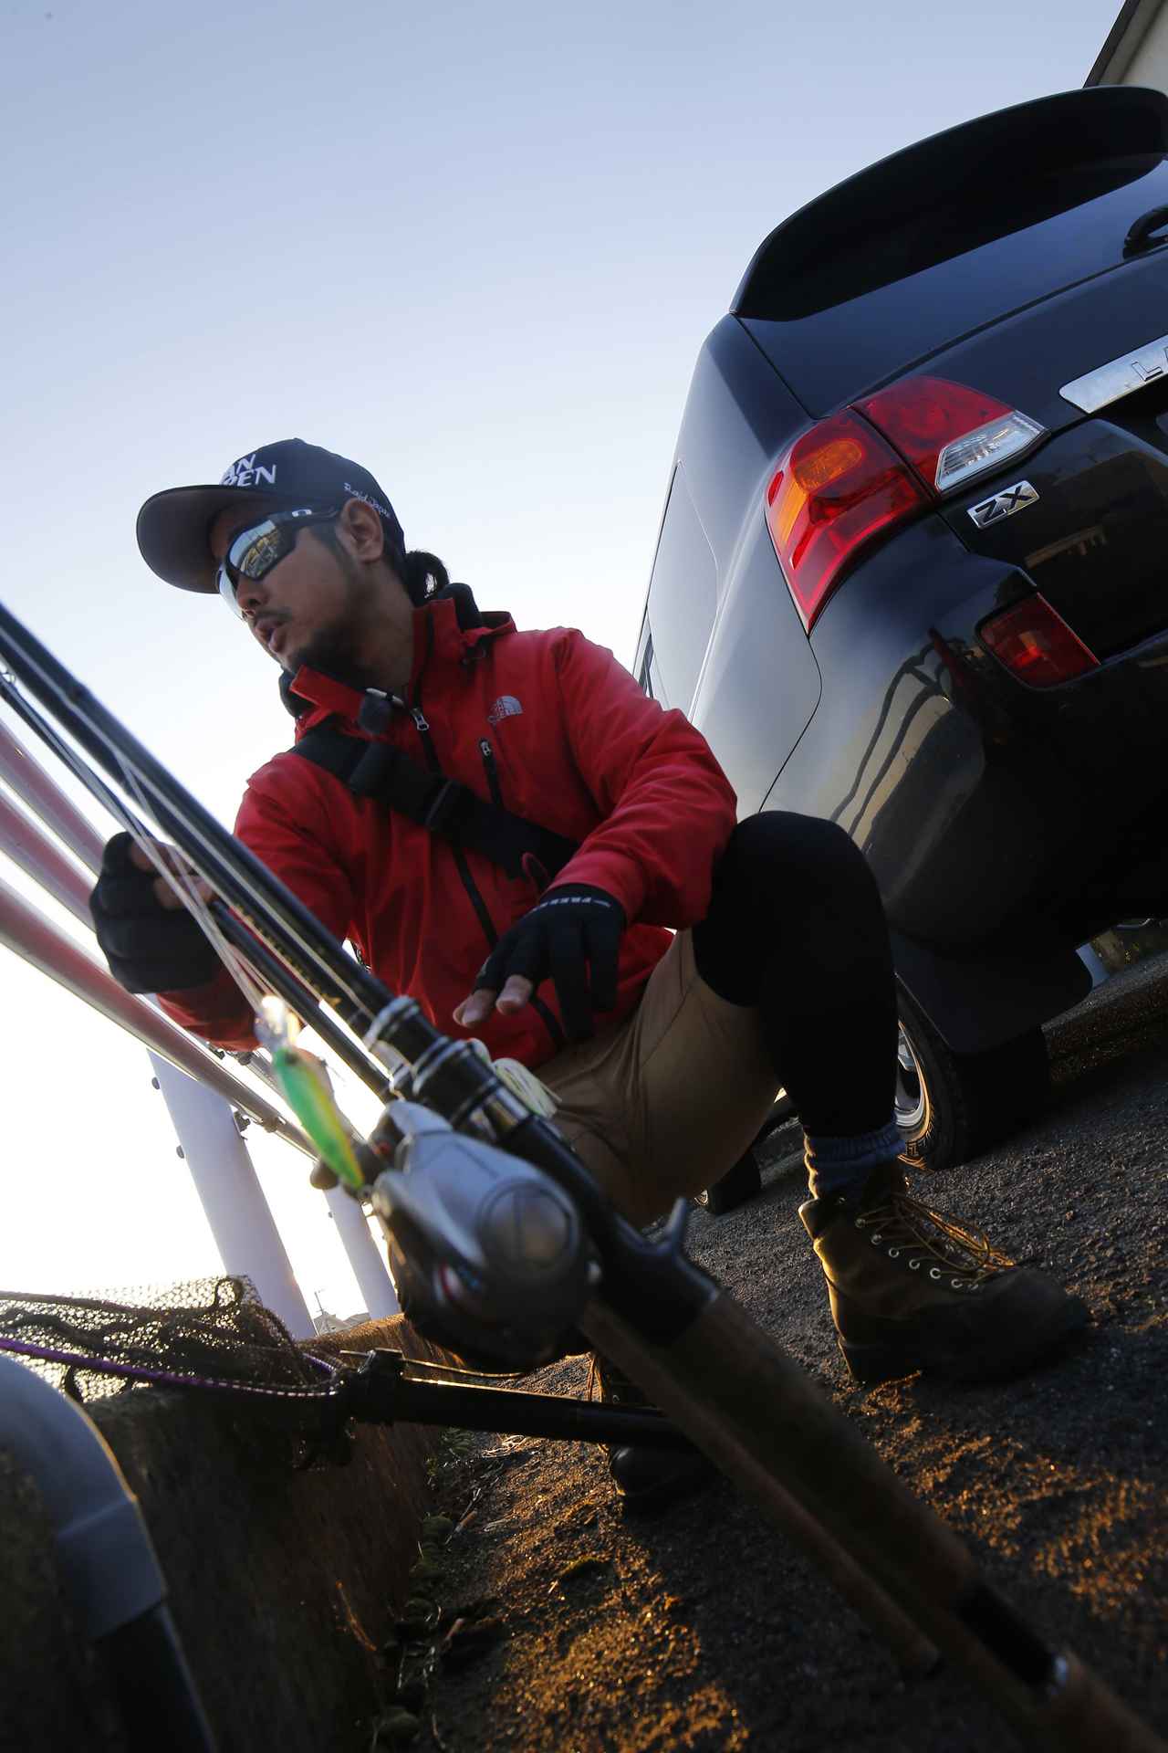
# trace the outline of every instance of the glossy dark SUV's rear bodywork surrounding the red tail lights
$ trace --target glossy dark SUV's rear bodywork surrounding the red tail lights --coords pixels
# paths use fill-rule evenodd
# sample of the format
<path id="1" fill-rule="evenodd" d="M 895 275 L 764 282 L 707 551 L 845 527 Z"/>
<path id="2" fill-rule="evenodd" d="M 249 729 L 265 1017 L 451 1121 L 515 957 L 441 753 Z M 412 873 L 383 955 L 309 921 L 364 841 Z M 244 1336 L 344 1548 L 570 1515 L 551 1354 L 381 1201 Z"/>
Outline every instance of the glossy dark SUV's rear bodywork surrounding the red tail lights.
<path id="1" fill-rule="evenodd" d="M 975 249 L 940 238 L 937 263 L 897 282 L 877 247 L 881 210 L 856 219 L 856 200 L 884 189 L 904 219 L 898 247 L 918 249 L 912 223 L 930 177 L 942 210 L 954 165 L 960 186 L 977 191 L 1016 161 L 1019 138 L 1030 147 L 1031 126 L 1045 175 L 1031 202 L 1038 219 L 1012 228 L 1009 216 L 974 214 Z M 1138 161 L 1117 167 L 1107 154 L 1124 130 Z M 1087 191 L 1073 210 L 1058 177 L 1068 151 L 1079 154 L 1070 184 Z M 1168 330 L 1168 254 L 1150 238 L 1124 259 L 1133 217 L 1154 202 L 1168 202 L 1168 100 L 1157 93 L 1070 93 L 897 154 L 763 242 L 735 310 L 699 356 L 681 422 L 637 673 L 651 684 L 657 666 L 667 703 L 709 738 L 742 815 L 795 810 L 851 834 L 879 884 L 898 976 L 960 1054 L 1075 1003 L 1089 987 L 1075 955 L 1084 938 L 1133 912 L 1168 910 L 1168 391 L 1150 384 L 1094 415 L 1061 396 Z M 867 284 L 825 307 L 828 358 L 816 359 L 807 328 L 806 347 L 792 349 L 797 307 L 814 300 L 786 286 L 783 252 L 802 251 L 813 291 L 830 286 L 834 240 L 851 247 L 849 224 L 876 237 L 870 261 L 855 254 Z M 1009 251 L 1010 273 L 988 293 L 995 247 Z M 961 287 L 970 254 L 975 298 Z M 921 305 L 930 284 L 947 289 L 940 312 Z M 876 324 L 895 298 L 897 333 L 851 345 L 848 326 Z M 767 316 L 767 302 L 786 302 L 795 319 Z M 767 486 L 813 424 L 813 405 L 832 412 L 904 366 L 996 396 L 1045 431 L 855 554 L 807 635 L 767 529 Z M 1012 515 L 979 528 L 970 510 L 1023 479 L 1033 491 L 1010 501 Z M 982 638 L 988 621 L 1037 589 L 1100 659 L 1044 689 Z M 672 656 L 662 664 L 655 652 Z"/>

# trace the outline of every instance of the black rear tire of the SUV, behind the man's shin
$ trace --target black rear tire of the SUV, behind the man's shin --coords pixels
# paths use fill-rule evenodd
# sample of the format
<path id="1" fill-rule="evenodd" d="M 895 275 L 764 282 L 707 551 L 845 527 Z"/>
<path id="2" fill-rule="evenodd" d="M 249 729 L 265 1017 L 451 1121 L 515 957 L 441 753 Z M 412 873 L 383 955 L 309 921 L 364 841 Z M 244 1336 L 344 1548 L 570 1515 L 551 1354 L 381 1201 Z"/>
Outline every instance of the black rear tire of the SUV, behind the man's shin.
<path id="1" fill-rule="evenodd" d="M 984 1054 L 954 1054 L 905 992 L 897 1057 L 902 1155 L 930 1173 L 1009 1138 L 1042 1111 L 1051 1094 L 1042 1029 Z"/>

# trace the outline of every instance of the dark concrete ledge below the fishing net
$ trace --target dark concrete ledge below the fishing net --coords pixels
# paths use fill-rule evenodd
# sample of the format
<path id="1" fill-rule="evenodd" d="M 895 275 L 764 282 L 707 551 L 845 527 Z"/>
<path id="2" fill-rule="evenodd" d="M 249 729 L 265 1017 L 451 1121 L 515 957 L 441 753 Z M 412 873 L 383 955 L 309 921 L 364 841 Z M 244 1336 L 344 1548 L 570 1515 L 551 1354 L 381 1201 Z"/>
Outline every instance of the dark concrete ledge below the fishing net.
<path id="1" fill-rule="evenodd" d="M 401 1317 L 313 1350 L 376 1345 L 443 1359 Z M 142 1504 L 221 1753 L 364 1753 L 382 1702 L 375 1653 L 406 1595 L 436 1432 L 359 1427 L 350 1466 L 294 1473 L 285 1434 L 198 1392 L 88 1411 Z M 39 1492 L 4 1453 L 0 1602 L 2 1753 L 121 1753 Z"/>

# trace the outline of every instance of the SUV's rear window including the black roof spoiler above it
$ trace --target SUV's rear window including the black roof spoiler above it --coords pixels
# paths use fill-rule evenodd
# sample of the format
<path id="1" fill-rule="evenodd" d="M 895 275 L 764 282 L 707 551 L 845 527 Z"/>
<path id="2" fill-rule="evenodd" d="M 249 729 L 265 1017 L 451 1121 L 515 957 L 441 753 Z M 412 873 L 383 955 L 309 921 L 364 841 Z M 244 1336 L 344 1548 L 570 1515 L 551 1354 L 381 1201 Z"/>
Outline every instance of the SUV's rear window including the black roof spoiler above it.
<path id="1" fill-rule="evenodd" d="M 1122 261 L 1168 202 L 1168 105 L 1044 98 L 923 140 L 781 224 L 734 312 L 813 414 Z"/>

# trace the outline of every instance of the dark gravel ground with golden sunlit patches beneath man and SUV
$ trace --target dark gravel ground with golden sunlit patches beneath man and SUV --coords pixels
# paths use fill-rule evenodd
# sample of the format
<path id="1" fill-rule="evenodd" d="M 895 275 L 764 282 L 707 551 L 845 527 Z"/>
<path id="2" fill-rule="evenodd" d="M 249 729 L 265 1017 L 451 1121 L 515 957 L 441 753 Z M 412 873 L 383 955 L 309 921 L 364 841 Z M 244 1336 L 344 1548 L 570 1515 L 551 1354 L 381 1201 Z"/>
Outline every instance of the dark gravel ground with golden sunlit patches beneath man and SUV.
<path id="1" fill-rule="evenodd" d="M 1047 1117 L 918 1194 L 1042 1264 L 1093 1311 L 1086 1338 L 1012 1385 L 923 1378 L 863 1392 L 830 1336 L 795 1206 L 797 1134 L 767 1146 L 762 1197 L 695 1213 L 690 1252 L 855 1418 L 970 1544 L 1047 1643 L 1070 1646 L 1168 1732 L 1164 1159 L 1168 957 L 1051 1026 Z M 569 1359 L 532 1381 L 580 1392 Z M 883 1644 L 723 1481 L 646 1520 L 602 1451 L 461 1439 L 436 1508 L 466 1522 L 427 1585 L 447 1653 L 406 1669 L 438 1753 L 998 1753 L 998 1713 L 958 1672 L 905 1685 Z M 433 1669 L 422 1699 L 417 1674 Z M 410 1734 L 410 1721 L 398 1720 Z M 378 1744 L 392 1744 L 392 1718 Z"/>

